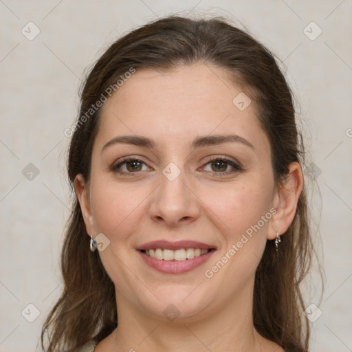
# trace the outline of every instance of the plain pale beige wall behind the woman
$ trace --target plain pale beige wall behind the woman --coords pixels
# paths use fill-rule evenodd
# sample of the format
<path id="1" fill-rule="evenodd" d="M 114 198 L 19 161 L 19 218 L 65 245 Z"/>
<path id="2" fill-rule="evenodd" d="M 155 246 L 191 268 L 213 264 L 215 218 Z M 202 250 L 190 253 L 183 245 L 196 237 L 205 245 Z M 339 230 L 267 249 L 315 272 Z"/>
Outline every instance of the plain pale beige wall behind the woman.
<path id="1" fill-rule="evenodd" d="M 321 302 L 318 286 L 306 294 L 322 312 L 311 351 L 352 351 L 351 0 L 1 0 L 0 351 L 40 351 L 61 292 L 70 207 L 63 131 L 76 118 L 85 67 L 118 36 L 173 12 L 230 17 L 283 60 L 316 165 L 307 184 L 326 282 Z M 318 285 L 316 274 L 307 283 Z"/>

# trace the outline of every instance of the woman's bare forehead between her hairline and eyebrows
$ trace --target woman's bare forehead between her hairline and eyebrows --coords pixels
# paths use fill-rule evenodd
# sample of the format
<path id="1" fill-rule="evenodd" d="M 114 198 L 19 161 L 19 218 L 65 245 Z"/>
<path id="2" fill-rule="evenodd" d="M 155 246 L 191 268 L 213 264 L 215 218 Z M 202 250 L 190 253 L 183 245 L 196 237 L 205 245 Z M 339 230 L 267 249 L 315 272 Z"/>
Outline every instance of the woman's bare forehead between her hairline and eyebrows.
<path id="1" fill-rule="evenodd" d="M 97 143 L 135 134 L 152 137 L 161 148 L 179 147 L 195 135 L 236 133 L 268 144 L 254 104 L 238 105 L 243 94 L 225 72 L 203 63 L 137 71 L 104 103 Z"/>

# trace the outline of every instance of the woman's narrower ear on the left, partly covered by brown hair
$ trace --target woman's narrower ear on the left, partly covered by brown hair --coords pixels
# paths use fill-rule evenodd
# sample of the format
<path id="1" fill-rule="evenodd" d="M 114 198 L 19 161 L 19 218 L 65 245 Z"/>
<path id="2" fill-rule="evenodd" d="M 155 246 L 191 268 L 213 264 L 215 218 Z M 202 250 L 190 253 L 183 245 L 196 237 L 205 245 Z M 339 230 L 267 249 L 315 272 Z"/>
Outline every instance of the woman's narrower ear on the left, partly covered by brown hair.
<path id="1" fill-rule="evenodd" d="M 82 174 L 76 175 L 76 178 L 74 179 L 74 190 L 76 192 L 78 202 L 80 203 L 80 210 L 82 211 L 87 233 L 89 235 L 93 235 L 95 232 L 89 199 L 89 184 L 87 184 Z"/>

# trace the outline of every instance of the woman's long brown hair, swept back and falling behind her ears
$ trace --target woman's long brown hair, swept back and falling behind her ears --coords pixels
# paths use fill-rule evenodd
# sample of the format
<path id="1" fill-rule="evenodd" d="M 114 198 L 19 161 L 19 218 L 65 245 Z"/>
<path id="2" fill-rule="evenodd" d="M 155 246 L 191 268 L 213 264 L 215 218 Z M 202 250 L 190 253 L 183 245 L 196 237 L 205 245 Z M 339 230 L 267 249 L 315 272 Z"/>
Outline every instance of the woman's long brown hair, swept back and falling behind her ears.
<path id="1" fill-rule="evenodd" d="M 164 17 L 133 30 L 115 41 L 87 75 L 80 94 L 78 120 L 72 134 L 68 175 L 89 180 L 91 151 L 98 131 L 97 102 L 118 89 L 118 80 L 131 69 L 168 70 L 179 65 L 205 63 L 219 67 L 241 85 L 256 104 L 256 111 L 270 140 L 276 182 L 288 173 L 291 162 L 303 164 L 304 150 L 295 122 L 292 91 L 273 54 L 250 34 L 228 20 Z M 89 113 L 87 113 L 89 111 Z M 282 236 L 276 253 L 267 241 L 254 282 L 253 320 L 256 330 L 286 352 L 307 351 L 309 325 L 303 315 L 300 283 L 311 265 L 306 191 L 300 194 L 294 221 Z M 102 340 L 118 325 L 113 282 L 98 252 L 89 250 L 89 236 L 79 203 L 74 197 L 72 214 L 61 254 L 64 289 L 50 311 L 41 333 L 45 351 L 74 351 L 87 340 Z"/>

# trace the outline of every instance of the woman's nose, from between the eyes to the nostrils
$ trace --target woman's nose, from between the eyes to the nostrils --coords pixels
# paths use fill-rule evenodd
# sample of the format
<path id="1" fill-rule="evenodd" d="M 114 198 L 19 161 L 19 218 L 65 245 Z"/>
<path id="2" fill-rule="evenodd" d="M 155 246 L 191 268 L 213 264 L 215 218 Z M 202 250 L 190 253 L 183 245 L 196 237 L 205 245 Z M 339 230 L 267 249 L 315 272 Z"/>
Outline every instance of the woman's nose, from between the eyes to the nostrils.
<path id="1" fill-rule="evenodd" d="M 188 184 L 183 171 L 173 180 L 161 173 L 149 208 L 151 219 L 173 227 L 198 219 L 199 199 Z"/>

